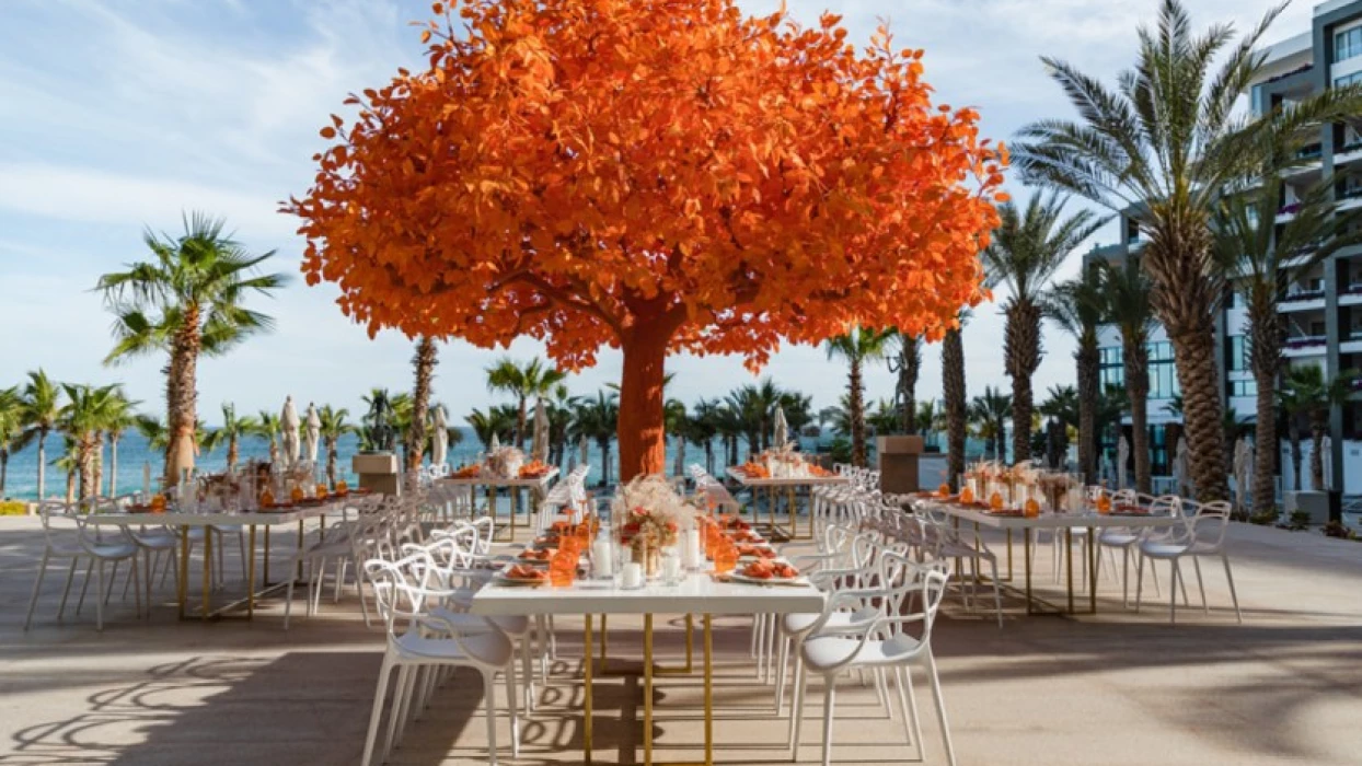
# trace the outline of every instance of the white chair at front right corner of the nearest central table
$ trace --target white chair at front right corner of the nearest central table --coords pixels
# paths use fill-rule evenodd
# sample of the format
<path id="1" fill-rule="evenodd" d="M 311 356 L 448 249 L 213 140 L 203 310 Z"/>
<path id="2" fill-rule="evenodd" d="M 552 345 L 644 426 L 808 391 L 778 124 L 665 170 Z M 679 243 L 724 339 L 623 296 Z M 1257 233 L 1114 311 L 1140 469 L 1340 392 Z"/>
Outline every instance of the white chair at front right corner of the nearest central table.
<path id="1" fill-rule="evenodd" d="M 872 599 L 877 604 L 877 614 L 872 618 L 870 625 L 851 631 L 820 633 L 804 644 L 801 654 L 806 671 L 799 676 L 794 693 L 791 761 L 798 761 L 799 755 L 799 724 L 804 718 L 804 693 L 809 673 L 823 676 L 823 765 L 828 766 L 832 761 L 832 721 L 838 676 L 854 669 L 869 669 L 877 673 L 893 672 L 904 733 L 910 744 L 917 744 L 919 756 L 925 759 L 922 725 L 913 694 L 913 668 L 922 667 L 932 684 L 941 736 L 945 742 L 947 761 L 955 766 L 955 747 L 951 743 L 951 727 L 947 721 L 945 702 L 941 698 L 941 680 L 937 676 L 936 659 L 932 656 L 932 626 L 945 593 L 945 566 L 943 562 L 918 565 L 908 556 L 893 551 L 885 551 L 881 562 L 883 570 L 887 577 L 891 577 L 891 581 L 884 588 L 873 590 Z M 829 603 L 864 604 L 866 593 L 872 592 L 838 593 L 829 599 Z M 913 601 L 917 601 L 915 608 Z M 921 625 L 921 631 L 917 634 L 907 630 L 915 623 Z"/>

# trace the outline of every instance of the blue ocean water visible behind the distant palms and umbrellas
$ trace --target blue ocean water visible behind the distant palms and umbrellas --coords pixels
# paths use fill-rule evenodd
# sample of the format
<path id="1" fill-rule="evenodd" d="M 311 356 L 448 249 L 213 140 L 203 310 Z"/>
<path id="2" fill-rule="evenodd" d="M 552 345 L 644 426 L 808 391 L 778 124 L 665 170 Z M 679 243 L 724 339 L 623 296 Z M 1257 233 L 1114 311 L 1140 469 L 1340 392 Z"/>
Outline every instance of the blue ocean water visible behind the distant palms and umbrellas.
<path id="1" fill-rule="evenodd" d="M 477 460 L 478 453 L 482 452 L 482 442 L 473 434 L 469 427 L 459 427 L 463 433 L 463 439 L 459 444 L 449 445 L 448 463 L 452 467 L 459 467 L 466 463 L 473 463 Z M 805 439 L 808 444 L 804 445 L 805 449 L 813 448 L 813 439 Z M 350 472 L 350 457 L 358 452 L 360 438 L 357 435 L 346 435 L 339 442 L 339 449 L 336 452 L 336 475 L 349 483 L 354 483 L 355 478 Z M 676 464 L 676 439 L 667 439 L 667 471 Z M 48 472 L 46 472 L 46 494 L 48 497 L 64 497 L 67 491 L 67 475 L 64 471 L 59 471 L 50 461 L 61 456 L 63 441 L 60 434 L 48 435 Z M 746 457 L 746 445 L 740 445 L 740 456 Z M 241 463 L 251 459 L 268 460 L 270 459 L 270 445 L 262 438 L 248 437 L 241 439 L 238 445 L 238 452 Z M 720 442 L 714 442 L 715 453 L 715 471 L 723 469 L 723 449 Z M 588 483 L 594 484 L 601 480 L 601 450 L 592 442 L 590 445 L 588 457 L 591 463 L 591 473 L 588 475 Z M 564 465 L 561 468 L 567 469 L 567 461 L 579 456 L 579 449 L 576 446 L 569 448 L 568 454 L 564 456 Z M 326 448 L 317 449 L 317 461 L 326 467 Z M 610 445 L 610 476 L 618 476 L 620 467 L 620 453 L 617 445 Z M 163 457 L 159 450 L 151 450 L 147 448 L 146 439 L 140 434 L 127 434 L 118 441 L 118 476 L 117 476 L 117 490 L 118 493 L 133 493 L 142 490 L 142 468 L 144 464 L 151 464 L 153 482 L 161 475 L 161 468 L 163 465 Z M 226 467 L 227 450 L 221 448 L 215 452 L 203 452 L 199 454 L 196 467 L 202 472 L 221 471 Z M 692 463 L 704 464 L 704 448 L 697 445 L 686 445 L 685 448 L 685 464 Z M 110 454 L 109 446 L 105 445 L 104 453 L 104 487 L 102 493 L 109 491 L 109 469 L 110 469 Z M 38 446 L 31 444 L 22 452 L 10 456 L 10 471 L 5 480 L 4 491 L 0 495 L 12 499 L 37 499 L 38 498 Z"/>

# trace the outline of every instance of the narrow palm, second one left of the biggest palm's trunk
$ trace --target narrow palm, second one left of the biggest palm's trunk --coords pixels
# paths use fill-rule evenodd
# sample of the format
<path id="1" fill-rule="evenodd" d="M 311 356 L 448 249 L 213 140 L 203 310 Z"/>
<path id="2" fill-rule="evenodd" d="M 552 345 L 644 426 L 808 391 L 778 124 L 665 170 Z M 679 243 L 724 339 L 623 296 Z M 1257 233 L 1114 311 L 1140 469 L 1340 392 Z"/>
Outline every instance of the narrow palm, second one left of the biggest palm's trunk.
<path id="1" fill-rule="evenodd" d="M 1076 278 L 1062 282 L 1050 291 L 1046 316 L 1077 342 L 1073 351 L 1079 397 L 1079 472 L 1087 484 L 1098 479 L 1098 423 L 1096 401 L 1100 396 L 1102 356 L 1098 346 L 1098 325 L 1106 317 L 1102 276 L 1095 268 L 1084 268 Z"/>

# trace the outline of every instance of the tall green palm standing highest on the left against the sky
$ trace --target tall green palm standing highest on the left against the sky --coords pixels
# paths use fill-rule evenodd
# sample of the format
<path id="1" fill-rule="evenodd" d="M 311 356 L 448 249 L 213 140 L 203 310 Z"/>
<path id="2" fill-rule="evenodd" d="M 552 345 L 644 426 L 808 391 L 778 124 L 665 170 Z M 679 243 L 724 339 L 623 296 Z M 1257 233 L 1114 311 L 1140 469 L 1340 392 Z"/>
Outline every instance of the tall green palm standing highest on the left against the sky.
<path id="1" fill-rule="evenodd" d="M 166 354 L 166 449 L 165 476 L 180 479 L 187 454 L 183 444 L 193 439 L 197 423 L 199 356 L 219 356 L 247 337 L 267 332 L 274 321 L 247 309 L 252 293 L 268 295 L 287 283 L 282 273 L 259 273 L 257 267 L 274 250 L 252 254 L 223 231 L 223 222 L 203 214 L 184 220 L 184 234 L 143 237 L 151 260 L 128 264 L 123 272 L 99 278 L 116 320 L 114 347 L 105 363 L 132 356 Z"/>

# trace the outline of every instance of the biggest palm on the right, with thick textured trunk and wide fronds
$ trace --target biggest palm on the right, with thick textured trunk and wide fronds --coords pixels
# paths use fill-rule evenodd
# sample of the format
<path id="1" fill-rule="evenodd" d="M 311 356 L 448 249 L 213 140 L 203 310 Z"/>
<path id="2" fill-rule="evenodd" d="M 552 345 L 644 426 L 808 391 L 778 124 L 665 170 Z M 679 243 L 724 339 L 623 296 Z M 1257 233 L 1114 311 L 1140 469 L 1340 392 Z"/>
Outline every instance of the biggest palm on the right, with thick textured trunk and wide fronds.
<path id="1" fill-rule="evenodd" d="M 1163 0 L 1158 29 L 1140 31 L 1137 65 L 1120 76 L 1115 91 L 1043 59 L 1081 120 L 1034 122 L 1013 143 L 1013 162 L 1027 181 L 1114 211 L 1132 208 L 1148 234 L 1140 260 L 1186 396 L 1193 482 L 1209 501 L 1223 499 L 1229 488 L 1215 337 L 1224 275 L 1214 268 L 1211 233 L 1218 200 L 1275 152 L 1273 140 L 1357 114 L 1362 102 L 1358 86 L 1331 87 L 1257 118 L 1239 116 L 1239 98 L 1263 79 L 1260 41 L 1283 8 L 1269 10 L 1219 56 L 1233 27 L 1219 24 L 1197 37 L 1182 3 Z"/>

